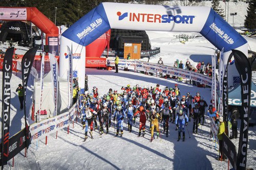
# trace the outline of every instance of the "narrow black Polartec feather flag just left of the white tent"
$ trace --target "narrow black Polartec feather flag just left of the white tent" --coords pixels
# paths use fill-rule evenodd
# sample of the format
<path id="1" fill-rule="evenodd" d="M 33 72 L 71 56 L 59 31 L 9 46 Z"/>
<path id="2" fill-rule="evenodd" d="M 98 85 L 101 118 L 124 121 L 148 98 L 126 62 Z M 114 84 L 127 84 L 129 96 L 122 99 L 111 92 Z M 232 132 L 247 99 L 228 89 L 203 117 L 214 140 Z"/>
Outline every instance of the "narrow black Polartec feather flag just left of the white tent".
<path id="1" fill-rule="evenodd" d="M 26 128 L 26 147 L 29 147 L 30 144 L 30 134 L 29 134 L 29 127 L 27 124 L 27 113 L 26 113 L 26 90 L 27 84 L 29 80 L 29 74 L 31 71 L 31 67 L 33 65 L 33 61 L 35 58 L 35 54 L 37 51 L 37 47 L 31 48 L 22 58 L 22 83 L 23 83 L 23 96 L 24 96 L 24 115 L 25 115 L 25 128 Z"/>

